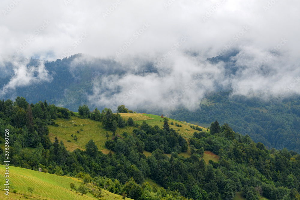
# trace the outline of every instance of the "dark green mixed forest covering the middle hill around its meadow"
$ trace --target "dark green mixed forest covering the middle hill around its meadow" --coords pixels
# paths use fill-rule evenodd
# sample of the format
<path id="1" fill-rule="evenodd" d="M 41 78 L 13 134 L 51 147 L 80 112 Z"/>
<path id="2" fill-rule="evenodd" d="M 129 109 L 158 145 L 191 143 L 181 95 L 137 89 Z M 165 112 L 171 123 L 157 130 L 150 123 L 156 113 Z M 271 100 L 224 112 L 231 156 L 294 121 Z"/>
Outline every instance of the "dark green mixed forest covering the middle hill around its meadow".
<path id="1" fill-rule="evenodd" d="M 119 108 L 128 112 L 125 106 Z M 57 126 L 57 118 L 76 117 L 99 121 L 107 132 L 113 133 L 105 142 L 111 150 L 109 154 L 98 151 L 93 140 L 88 141 L 85 150 L 72 152 L 57 138 L 49 140 L 48 126 Z M 286 148 L 268 150 L 250 136 L 235 133 L 226 123 L 220 126 L 215 121 L 210 131 L 195 128 L 187 141 L 178 130 L 170 128 L 168 118 L 161 118 L 162 127 L 151 126 L 147 121 L 137 124 L 110 109 L 90 112 L 83 105 L 79 113 L 74 113 L 46 101 L 28 104 L 23 97 L 15 102 L 1 101 L 0 118 L 1 145 L 4 146 L 4 130 L 10 132 L 11 165 L 81 178 L 83 187 L 92 182 L 112 193 L 139 200 L 233 199 L 238 191 L 249 200 L 260 196 L 272 200 L 300 198 L 300 155 Z M 114 134 L 126 126 L 134 127 L 133 132 Z M 190 157 L 178 155 L 188 148 Z M 146 157 L 144 150 L 152 154 Z M 204 151 L 217 154 L 220 160 L 205 163 Z M 157 184 L 150 185 L 145 179 Z"/>

